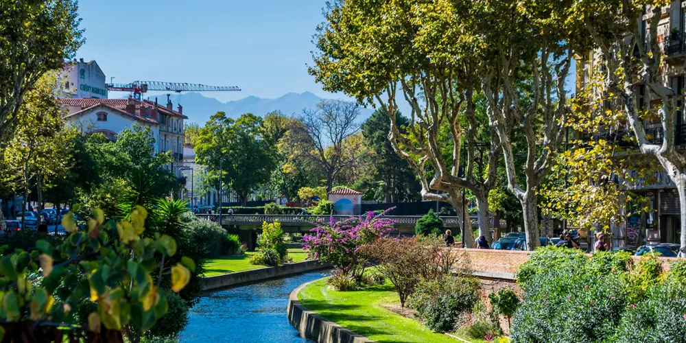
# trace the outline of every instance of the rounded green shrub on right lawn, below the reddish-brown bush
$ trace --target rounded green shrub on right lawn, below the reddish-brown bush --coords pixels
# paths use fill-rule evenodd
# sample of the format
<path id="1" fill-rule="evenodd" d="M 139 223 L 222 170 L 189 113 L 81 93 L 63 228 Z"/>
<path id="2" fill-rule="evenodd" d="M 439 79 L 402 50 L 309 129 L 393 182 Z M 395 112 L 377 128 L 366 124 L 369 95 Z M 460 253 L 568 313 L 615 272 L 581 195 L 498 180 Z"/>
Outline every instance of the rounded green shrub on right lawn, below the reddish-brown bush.
<path id="1" fill-rule="evenodd" d="M 448 276 L 441 281 L 422 281 L 416 286 L 408 305 L 434 331 L 453 331 L 466 312 L 479 300 L 477 281 Z"/>

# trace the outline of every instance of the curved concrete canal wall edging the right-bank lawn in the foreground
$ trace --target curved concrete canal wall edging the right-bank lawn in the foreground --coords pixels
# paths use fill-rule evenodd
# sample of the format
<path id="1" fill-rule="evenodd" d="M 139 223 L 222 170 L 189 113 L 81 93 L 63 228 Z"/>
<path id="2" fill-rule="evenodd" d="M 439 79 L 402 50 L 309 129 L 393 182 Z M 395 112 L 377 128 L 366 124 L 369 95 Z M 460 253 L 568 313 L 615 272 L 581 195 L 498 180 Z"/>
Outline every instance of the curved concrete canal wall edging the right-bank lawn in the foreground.
<path id="1" fill-rule="evenodd" d="M 312 281 L 314 282 L 314 281 Z M 318 343 L 374 343 L 335 322 L 331 322 L 300 304 L 298 293 L 309 283 L 303 283 L 288 298 L 288 320 L 304 338 Z"/>

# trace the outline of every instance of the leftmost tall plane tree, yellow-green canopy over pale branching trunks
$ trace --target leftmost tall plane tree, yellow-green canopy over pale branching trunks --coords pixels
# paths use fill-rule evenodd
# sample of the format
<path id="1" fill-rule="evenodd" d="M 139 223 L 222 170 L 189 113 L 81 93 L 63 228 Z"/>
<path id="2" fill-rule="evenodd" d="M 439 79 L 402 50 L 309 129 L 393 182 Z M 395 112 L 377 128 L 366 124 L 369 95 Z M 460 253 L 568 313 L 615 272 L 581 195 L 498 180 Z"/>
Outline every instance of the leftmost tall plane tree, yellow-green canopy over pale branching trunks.
<path id="1" fill-rule="evenodd" d="M 495 185 L 500 143 L 491 132 L 488 167 L 476 172 L 473 97 L 480 91 L 480 54 L 477 42 L 454 23 L 462 20 L 463 7 L 451 1 L 333 3 L 318 27 L 309 73 L 327 91 L 380 106 L 390 121 L 388 139 L 418 176 L 422 198 L 447 202 L 462 217 L 466 204 L 460 191 L 469 189 L 480 209 L 480 235 L 490 239 L 488 193 Z M 411 108 L 406 128 L 397 122 L 399 99 Z M 473 246 L 468 219 L 466 224 L 466 244 Z"/>

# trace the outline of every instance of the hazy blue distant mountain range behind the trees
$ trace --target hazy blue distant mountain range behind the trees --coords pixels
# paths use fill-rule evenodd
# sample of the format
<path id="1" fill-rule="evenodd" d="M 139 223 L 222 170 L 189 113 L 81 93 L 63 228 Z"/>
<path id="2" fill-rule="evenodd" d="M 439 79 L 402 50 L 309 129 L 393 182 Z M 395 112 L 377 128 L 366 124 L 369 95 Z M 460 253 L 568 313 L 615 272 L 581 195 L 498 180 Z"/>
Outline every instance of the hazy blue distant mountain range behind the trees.
<path id="1" fill-rule="evenodd" d="M 149 99 L 155 97 L 163 104 L 166 102 L 165 95 L 151 95 Z M 220 102 L 213 97 L 205 97 L 200 93 L 184 93 L 172 97 L 174 108 L 177 102 L 183 106 L 183 114 L 188 116 L 189 121 L 200 124 L 201 126 L 209 121 L 210 117 L 219 111 L 224 111 L 226 115 L 237 118 L 244 113 L 252 113 L 263 117 L 273 110 L 281 110 L 285 115 L 301 115 L 305 108 L 316 108 L 317 104 L 324 100 L 310 92 L 287 93 L 276 99 L 265 99 L 261 97 L 249 96 L 243 99 L 230 102 Z M 362 108 L 362 115 L 359 121 L 367 119 L 374 110 L 372 108 Z"/>

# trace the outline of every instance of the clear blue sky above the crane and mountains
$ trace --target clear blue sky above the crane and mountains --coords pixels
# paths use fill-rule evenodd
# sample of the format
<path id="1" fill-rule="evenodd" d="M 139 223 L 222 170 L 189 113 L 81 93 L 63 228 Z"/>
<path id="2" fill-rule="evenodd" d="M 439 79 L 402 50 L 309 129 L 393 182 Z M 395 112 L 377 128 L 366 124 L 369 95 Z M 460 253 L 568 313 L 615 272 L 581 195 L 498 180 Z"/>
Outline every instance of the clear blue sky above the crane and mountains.
<path id="1" fill-rule="evenodd" d="M 86 44 L 110 81 L 239 86 L 222 101 L 322 91 L 307 74 L 324 0 L 81 0 Z M 118 97 L 119 93 L 115 93 Z M 123 93 L 121 93 L 123 94 Z M 150 93 L 149 95 L 152 95 Z M 112 95 L 110 95 L 112 97 Z"/>

